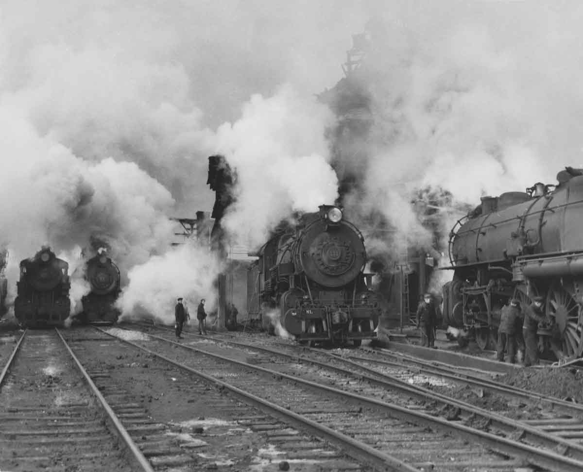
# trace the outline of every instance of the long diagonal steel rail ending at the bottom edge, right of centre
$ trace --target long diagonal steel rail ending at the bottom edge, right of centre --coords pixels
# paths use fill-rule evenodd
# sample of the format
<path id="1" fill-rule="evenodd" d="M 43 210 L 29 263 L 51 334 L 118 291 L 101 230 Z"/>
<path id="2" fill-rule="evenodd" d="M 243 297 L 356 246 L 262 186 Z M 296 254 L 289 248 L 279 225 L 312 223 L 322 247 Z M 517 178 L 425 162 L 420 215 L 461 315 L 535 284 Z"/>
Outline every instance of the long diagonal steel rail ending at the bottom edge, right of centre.
<path id="1" fill-rule="evenodd" d="M 99 329 L 99 328 L 96 327 L 95 329 Z M 169 364 L 174 365 L 175 367 L 178 367 L 184 371 L 187 371 L 191 374 L 199 376 L 208 382 L 215 383 L 216 385 L 220 386 L 220 388 L 229 390 L 231 393 L 236 395 L 241 400 L 248 402 L 248 403 L 251 403 L 252 405 L 257 406 L 257 407 L 261 408 L 262 410 L 268 410 L 271 414 L 273 414 L 279 420 L 287 422 L 288 424 L 293 424 L 300 429 L 308 429 L 309 431 L 312 432 L 312 434 L 323 437 L 323 438 L 327 439 L 328 441 L 335 443 L 336 445 L 340 444 L 342 446 L 342 448 L 344 448 L 345 451 L 350 451 L 351 456 L 353 456 L 359 460 L 363 460 L 364 462 L 366 462 L 367 464 L 370 464 L 373 467 L 377 467 L 380 470 L 390 470 L 390 471 L 395 471 L 395 472 L 419 472 L 419 469 L 416 469 L 415 467 L 409 466 L 405 462 L 402 462 L 401 460 L 396 459 L 395 457 L 389 456 L 389 455 L 382 453 L 374 448 L 371 448 L 371 446 L 368 446 L 364 443 L 356 441 L 356 439 L 350 438 L 350 436 L 346 436 L 338 431 L 334 431 L 331 428 L 328 428 L 324 425 L 319 424 L 318 422 L 315 422 L 315 421 L 312 421 L 308 418 L 305 418 L 300 414 L 294 413 L 293 411 L 286 410 L 286 408 L 280 407 L 280 406 L 276 405 L 275 403 L 272 403 L 271 401 L 261 399 L 260 397 L 254 395 L 254 394 L 247 393 L 244 390 L 241 390 L 234 385 L 230 385 L 227 382 L 223 382 L 223 381 L 216 379 L 210 375 L 206 375 L 203 372 L 196 371 L 195 369 L 192 369 L 184 364 L 180 364 L 180 362 L 171 360 L 170 358 L 168 358 L 164 355 L 155 353 L 154 351 L 149 350 L 143 346 L 140 346 L 139 344 L 133 343 L 132 341 L 129 341 L 127 339 L 122 339 L 120 337 L 115 336 L 114 334 L 108 333 L 108 332 L 103 331 L 101 329 L 99 329 L 99 330 L 101 332 L 107 334 L 108 336 L 111 336 L 114 339 L 117 339 L 118 341 L 121 341 L 123 343 L 127 343 L 130 346 L 134 346 L 135 348 L 138 348 L 139 350 L 141 350 L 147 354 L 150 354 L 153 357 L 157 357 L 157 358 L 163 360 L 164 362 L 168 362 Z M 152 336 L 152 334 L 148 334 L 148 336 Z M 166 342 L 171 343 L 171 344 L 175 344 L 176 346 L 181 346 L 181 347 L 185 347 L 185 348 L 187 347 L 187 346 L 184 346 L 180 343 L 174 343 L 173 341 L 168 341 L 162 337 L 158 337 L 158 336 L 152 336 L 152 337 L 166 341 Z M 196 349 L 193 349 L 193 350 L 198 351 Z M 200 352 L 206 354 L 204 351 L 200 351 Z M 236 362 L 237 364 L 241 364 L 241 365 L 244 365 L 245 367 L 248 367 L 248 364 L 245 364 L 244 362 L 233 361 L 231 359 L 224 358 L 222 356 L 217 356 L 217 355 L 213 355 L 213 356 L 220 358 L 222 360 L 225 360 L 225 361 Z M 271 372 L 271 371 L 269 371 L 269 372 Z"/>

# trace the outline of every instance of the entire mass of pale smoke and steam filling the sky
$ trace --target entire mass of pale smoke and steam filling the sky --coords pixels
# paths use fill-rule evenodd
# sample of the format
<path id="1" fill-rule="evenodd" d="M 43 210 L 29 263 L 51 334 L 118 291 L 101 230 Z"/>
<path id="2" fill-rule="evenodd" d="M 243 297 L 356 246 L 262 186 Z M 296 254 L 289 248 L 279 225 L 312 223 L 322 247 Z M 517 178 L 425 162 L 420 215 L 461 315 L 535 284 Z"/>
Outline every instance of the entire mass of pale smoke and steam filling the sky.
<path id="1" fill-rule="evenodd" d="M 72 258 L 98 237 L 129 274 L 125 311 L 171 317 L 175 295 L 209 300 L 219 266 L 196 248 L 177 258 L 187 249 L 169 249 L 167 217 L 210 209 L 217 152 L 239 175 L 226 226 L 251 245 L 291 212 L 332 203 L 331 165 L 362 169 L 350 216 L 384 212 L 409 241 L 427 238 L 408 213 L 420 186 L 477 205 L 552 183 L 583 161 L 582 13 L 576 2 L 5 1 L 10 290 L 42 244 Z M 340 78 L 350 34 L 371 17 L 374 132 L 338 163 L 324 138 L 333 117 L 312 95 Z"/>

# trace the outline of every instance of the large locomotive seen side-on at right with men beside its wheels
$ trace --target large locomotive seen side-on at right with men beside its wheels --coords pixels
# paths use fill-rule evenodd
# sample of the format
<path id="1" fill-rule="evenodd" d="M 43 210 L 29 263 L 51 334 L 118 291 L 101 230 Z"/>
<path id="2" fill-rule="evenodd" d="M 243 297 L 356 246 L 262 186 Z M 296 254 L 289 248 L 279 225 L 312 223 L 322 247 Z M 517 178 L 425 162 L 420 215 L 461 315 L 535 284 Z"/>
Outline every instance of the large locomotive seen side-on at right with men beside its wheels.
<path id="1" fill-rule="evenodd" d="M 451 231 L 444 319 L 483 349 L 494 346 L 510 298 L 524 310 L 540 295 L 539 351 L 559 360 L 583 354 L 583 170 L 567 167 L 557 181 L 484 197 Z"/>

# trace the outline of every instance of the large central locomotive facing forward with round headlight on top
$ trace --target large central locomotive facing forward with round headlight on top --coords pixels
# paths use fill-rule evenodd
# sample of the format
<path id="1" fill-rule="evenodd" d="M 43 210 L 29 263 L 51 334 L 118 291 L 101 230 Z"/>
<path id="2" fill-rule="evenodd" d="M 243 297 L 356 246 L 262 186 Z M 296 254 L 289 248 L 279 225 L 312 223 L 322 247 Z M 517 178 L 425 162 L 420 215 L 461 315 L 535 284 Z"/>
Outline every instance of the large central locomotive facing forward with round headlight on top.
<path id="1" fill-rule="evenodd" d="M 287 225 L 256 254 L 249 271 L 247 296 L 264 321 L 301 343 L 314 345 L 375 337 L 380 308 L 364 274 L 366 251 L 360 231 L 343 219 L 342 210 L 321 205 L 319 211 Z"/>

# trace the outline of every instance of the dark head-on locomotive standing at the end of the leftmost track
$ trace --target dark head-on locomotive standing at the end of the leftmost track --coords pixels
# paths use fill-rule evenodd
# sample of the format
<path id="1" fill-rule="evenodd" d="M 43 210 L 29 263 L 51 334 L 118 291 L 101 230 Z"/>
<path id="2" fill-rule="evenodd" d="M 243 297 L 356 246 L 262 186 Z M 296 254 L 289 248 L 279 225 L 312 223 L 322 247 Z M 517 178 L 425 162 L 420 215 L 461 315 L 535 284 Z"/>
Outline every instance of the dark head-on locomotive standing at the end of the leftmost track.
<path id="1" fill-rule="evenodd" d="M 14 314 L 25 327 L 61 326 L 71 311 L 69 264 L 44 247 L 20 262 Z"/>

